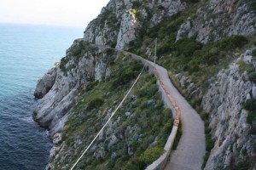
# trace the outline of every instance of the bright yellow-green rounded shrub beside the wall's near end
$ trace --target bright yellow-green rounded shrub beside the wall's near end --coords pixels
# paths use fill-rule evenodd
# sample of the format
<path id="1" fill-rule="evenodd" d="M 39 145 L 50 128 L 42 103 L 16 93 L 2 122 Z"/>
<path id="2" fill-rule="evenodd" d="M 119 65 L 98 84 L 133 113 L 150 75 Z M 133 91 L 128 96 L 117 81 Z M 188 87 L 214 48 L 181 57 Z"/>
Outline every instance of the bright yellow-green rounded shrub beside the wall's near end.
<path id="1" fill-rule="evenodd" d="M 153 147 L 145 150 L 144 153 L 140 156 L 140 161 L 150 164 L 155 161 L 159 156 L 164 153 L 164 149 L 160 147 Z"/>

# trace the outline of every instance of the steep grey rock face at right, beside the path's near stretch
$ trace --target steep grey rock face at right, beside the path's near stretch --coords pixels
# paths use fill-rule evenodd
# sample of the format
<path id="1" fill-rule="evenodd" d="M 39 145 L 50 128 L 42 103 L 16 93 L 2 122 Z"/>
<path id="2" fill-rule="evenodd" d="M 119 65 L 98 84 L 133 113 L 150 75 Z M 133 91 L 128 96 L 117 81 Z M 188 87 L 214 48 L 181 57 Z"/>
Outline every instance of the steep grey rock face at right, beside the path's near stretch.
<path id="1" fill-rule="evenodd" d="M 229 69 L 219 71 L 216 82 L 212 82 L 202 99 L 215 140 L 205 169 L 236 169 L 239 166 L 248 169 L 252 162 L 255 163 L 255 124 L 247 121 L 248 111 L 244 105 L 248 99 L 256 99 L 252 93 L 256 84 L 250 81 L 248 72 L 243 72 L 241 66 L 247 65 L 255 71 L 252 65 L 256 61 L 251 58 L 243 54 Z"/>

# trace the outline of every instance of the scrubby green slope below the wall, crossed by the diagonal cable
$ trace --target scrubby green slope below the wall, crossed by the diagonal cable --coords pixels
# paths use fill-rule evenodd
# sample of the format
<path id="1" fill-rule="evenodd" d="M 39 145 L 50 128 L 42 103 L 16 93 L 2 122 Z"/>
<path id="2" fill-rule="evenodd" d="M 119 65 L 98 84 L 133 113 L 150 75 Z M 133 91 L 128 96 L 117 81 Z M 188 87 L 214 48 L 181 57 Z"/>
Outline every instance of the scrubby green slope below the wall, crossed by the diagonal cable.
<path id="1" fill-rule="evenodd" d="M 64 164 L 71 166 L 90 144 L 142 66 L 131 56 L 119 54 L 111 65 L 111 78 L 105 82 L 90 82 L 79 91 L 78 103 L 63 133 L 67 145 L 61 154 L 65 155 L 65 160 L 62 165 L 55 164 L 56 169 Z M 144 169 L 163 153 L 172 123 L 172 111 L 164 108 L 155 77 L 143 73 L 110 125 L 79 162 L 78 168 Z M 113 135 L 116 142 L 112 143 Z"/>

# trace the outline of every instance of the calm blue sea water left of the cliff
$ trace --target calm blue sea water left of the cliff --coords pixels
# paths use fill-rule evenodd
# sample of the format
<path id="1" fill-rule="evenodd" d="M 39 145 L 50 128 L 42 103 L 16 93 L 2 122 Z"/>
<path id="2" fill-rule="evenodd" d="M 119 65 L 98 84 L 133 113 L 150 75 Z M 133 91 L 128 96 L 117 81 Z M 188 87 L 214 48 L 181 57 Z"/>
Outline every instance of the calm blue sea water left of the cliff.
<path id="1" fill-rule="evenodd" d="M 65 55 L 83 29 L 0 25 L 0 169 L 40 170 L 51 147 L 32 120 L 38 78 Z"/>

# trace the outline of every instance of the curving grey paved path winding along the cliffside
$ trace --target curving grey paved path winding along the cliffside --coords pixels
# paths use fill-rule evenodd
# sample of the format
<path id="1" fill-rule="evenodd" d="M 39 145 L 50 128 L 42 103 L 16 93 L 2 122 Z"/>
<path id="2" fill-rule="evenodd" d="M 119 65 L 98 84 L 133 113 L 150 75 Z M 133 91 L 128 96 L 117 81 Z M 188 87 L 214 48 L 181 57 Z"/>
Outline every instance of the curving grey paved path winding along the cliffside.
<path id="1" fill-rule="evenodd" d="M 154 65 L 151 61 L 143 59 L 136 54 L 131 55 L 143 60 L 143 62 Z M 177 150 L 172 151 L 170 161 L 167 162 L 165 170 L 200 170 L 203 163 L 203 156 L 206 152 L 204 122 L 201 120 L 199 114 L 189 105 L 187 100 L 173 86 L 166 69 L 160 65 L 155 65 L 155 69 L 159 72 L 161 81 L 181 111 L 183 135 L 179 140 Z"/>

